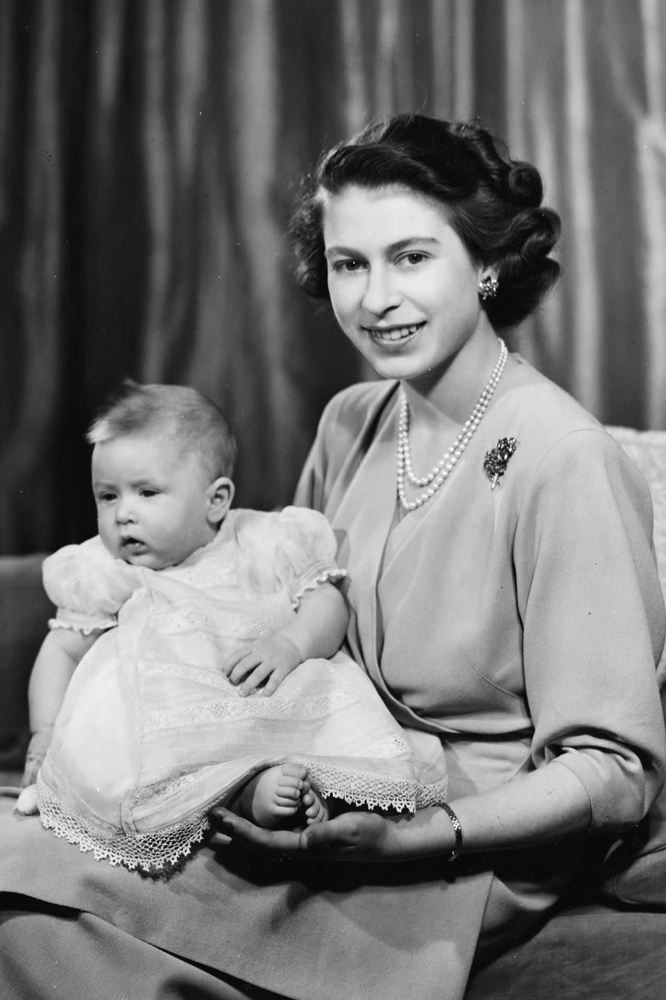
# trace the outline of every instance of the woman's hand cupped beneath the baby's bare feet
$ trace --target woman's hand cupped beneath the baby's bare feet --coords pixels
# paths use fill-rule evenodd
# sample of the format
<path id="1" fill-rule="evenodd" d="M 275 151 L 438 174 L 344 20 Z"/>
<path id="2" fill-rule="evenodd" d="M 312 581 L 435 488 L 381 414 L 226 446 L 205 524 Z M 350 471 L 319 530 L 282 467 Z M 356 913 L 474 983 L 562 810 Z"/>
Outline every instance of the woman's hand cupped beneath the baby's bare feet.
<path id="1" fill-rule="evenodd" d="M 331 860 L 406 861 L 452 850 L 452 827 L 439 813 L 441 810 L 424 809 L 415 815 L 387 817 L 344 812 L 303 831 L 264 830 L 222 806 L 212 810 L 210 819 L 215 830 L 254 850 L 315 857 L 325 854 Z"/>

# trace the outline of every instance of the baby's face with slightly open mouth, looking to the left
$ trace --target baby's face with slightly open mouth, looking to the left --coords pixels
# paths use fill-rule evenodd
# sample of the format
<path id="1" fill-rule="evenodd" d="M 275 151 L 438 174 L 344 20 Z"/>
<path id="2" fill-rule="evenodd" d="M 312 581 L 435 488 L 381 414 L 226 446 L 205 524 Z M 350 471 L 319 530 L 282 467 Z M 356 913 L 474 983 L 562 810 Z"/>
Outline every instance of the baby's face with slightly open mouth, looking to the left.
<path id="1" fill-rule="evenodd" d="M 134 566 L 176 566 L 216 535 L 206 471 L 173 438 L 132 435 L 95 445 L 93 491 L 100 537 Z"/>

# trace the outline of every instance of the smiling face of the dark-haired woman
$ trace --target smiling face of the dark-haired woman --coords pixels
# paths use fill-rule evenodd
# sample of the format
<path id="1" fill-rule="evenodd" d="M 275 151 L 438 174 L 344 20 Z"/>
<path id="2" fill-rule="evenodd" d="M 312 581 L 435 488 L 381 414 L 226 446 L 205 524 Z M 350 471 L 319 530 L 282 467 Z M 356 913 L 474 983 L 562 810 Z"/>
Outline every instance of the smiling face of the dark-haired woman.
<path id="1" fill-rule="evenodd" d="M 333 311 L 377 374 L 436 376 L 487 327 L 482 268 L 436 201 L 402 187 L 350 186 L 327 196 L 323 221 Z"/>

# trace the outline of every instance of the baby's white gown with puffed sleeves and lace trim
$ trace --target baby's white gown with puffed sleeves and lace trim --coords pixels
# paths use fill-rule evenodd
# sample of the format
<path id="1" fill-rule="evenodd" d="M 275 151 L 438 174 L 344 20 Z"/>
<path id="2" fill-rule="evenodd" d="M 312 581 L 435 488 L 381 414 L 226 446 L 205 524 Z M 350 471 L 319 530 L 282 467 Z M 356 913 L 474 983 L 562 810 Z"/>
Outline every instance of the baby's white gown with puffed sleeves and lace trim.
<path id="1" fill-rule="evenodd" d="M 77 667 L 38 778 L 42 823 L 111 864 L 161 869 L 203 839 L 209 810 L 258 771 L 306 765 L 324 796 L 413 811 L 442 801 L 440 756 L 416 758 L 365 673 L 307 660 L 269 698 L 220 666 L 303 595 L 344 576 L 321 514 L 233 510 L 180 566 L 116 560 L 99 538 L 44 563 L 52 628 L 102 634 Z"/>

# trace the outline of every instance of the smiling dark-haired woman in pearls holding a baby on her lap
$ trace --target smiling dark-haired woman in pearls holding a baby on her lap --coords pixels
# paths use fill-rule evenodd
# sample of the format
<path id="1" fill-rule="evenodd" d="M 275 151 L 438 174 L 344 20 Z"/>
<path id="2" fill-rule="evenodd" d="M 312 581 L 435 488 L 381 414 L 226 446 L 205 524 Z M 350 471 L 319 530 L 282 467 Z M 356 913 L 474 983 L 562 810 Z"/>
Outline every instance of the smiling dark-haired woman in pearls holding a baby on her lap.
<path id="1" fill-rule="evenodd" d="M 302 284 L 381 377 L 333 399 L 297 502 L 333 523 L 349 650 L 441 747 L 448 809 L 301 835 L 218 810 L 231 847 L 148 886 L 67 862 L 33 824 L 8 838 L 28 860 L 2 888 L 35 911 L 5 923 L 8 953 L 22 926 L 75 949 L 77 975 L 91 949 L 95 980 L 117 958 L 156 996 L 174 976 L 183 995 L 453 1000 L 543 919 L 590 832 L 644 815 L 665 758 L 648 489 L 497 337 L 557 276 L 541 199 L 482 129 L 398 116 L 322 160 L 295 225 Z"/>

